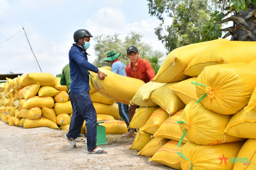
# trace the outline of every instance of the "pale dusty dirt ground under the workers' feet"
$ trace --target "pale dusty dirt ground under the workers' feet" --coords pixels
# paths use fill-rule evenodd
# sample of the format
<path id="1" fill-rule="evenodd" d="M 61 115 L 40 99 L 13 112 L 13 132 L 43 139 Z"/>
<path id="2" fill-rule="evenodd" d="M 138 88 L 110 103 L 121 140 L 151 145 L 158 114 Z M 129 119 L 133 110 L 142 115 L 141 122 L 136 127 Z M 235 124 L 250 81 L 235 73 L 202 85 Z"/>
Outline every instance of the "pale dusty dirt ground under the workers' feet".
<path id="1" fill-rule="evenodd" d="M 134 139 L 107 135 L 104 155 L 88 154 L 84 143 L 73 148 L 64 138 L 65 131 L 46 127 L 24 129 L 0 121 L 0 169 L 64 170 L 174 170 L 148 161 L 130 150 Z"/>

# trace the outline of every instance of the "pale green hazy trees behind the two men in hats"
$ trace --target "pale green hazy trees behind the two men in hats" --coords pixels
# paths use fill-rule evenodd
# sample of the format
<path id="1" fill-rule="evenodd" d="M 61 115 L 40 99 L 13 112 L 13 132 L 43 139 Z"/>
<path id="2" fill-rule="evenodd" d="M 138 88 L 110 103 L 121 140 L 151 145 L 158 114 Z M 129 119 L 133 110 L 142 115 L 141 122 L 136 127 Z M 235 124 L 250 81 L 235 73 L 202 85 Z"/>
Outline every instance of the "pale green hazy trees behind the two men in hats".
<path id="1" fill-rule="evenodd" d="M 142 42 L 143 35 L 136 32 L 130 32 L 123 40 L 119 38 L 120 34 L 114 35 L 97 35 L 94 40 L 96 44 L 94 46 L 95 54 L 97 58 L 94 60 L 93 64 L 96 67 L 109 66 L 109 62 L 104 61 L 108 51 L 114 50 L 116 53 L 121 53 L 119 59 L 124 62 L 125 65 L 129 64 L 129 59 L 127 59 L 126 50 L 129 46 L 136 46 L 140 58 L 147 59 L 150 61 L 155 73 L 157 73 L 161 61 L 159 60 L 164 56 L 164 53 L 159 50 L 153 50 L 150 44 Z"/>

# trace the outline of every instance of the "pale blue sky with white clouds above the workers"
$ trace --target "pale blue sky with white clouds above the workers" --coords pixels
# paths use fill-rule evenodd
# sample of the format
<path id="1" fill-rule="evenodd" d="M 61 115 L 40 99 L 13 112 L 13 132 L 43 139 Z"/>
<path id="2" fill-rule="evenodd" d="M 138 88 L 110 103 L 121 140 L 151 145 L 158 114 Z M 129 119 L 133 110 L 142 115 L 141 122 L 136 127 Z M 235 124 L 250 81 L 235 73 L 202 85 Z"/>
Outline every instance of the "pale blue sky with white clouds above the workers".
<path id="1" fill-rule="evenodd" d="M 147 4 L 146 0 L 0 0 L 0 43 L 23 25 L 43 72 L 53 75 L 68 63 L 78 29 L 87 29 L 93 36 L 120 33 L 120 38 L 130 31 L 141 32 L 144 42 L 165 53 L 154 33 L 160 22 L 148 14 Z M 95 59 L 93 45 L 92 38 L 87 50 L 92 54 L 90 62 Z M 1 74 L 37 72 L 23 31 L 0 44 L 0 57 Z"/>

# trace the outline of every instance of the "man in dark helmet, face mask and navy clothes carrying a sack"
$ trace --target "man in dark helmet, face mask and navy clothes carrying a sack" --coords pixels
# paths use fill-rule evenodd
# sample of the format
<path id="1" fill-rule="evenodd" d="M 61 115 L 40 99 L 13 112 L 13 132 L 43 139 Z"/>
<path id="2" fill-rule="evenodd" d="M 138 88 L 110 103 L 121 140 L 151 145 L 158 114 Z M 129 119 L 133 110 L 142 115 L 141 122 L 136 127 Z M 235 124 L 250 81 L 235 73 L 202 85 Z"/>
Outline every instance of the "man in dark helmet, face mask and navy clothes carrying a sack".
<path id="1" fill-rule="evenodd" d="M 88 62 L 86 50 L 90 47 L 92 35 L 87 30 L 81 29 L 74 33 L 74 41 L 69 50 L 70 85 L 69 97 L 72 101 L 73 115 L 71 117 L 69 131 L 65 138 L 76 148 L 77 134 L 81 126 L 86 122 L 87 150 L 90 154 L 105 154 L 103 149 L 96 146 L 97 142 L 97 114 L 89 96 L 89 72 L 98 73 L 99 79 L 104 80 L 107 74 Z M 75 109 L 75 111 L 74 111 Z"/>

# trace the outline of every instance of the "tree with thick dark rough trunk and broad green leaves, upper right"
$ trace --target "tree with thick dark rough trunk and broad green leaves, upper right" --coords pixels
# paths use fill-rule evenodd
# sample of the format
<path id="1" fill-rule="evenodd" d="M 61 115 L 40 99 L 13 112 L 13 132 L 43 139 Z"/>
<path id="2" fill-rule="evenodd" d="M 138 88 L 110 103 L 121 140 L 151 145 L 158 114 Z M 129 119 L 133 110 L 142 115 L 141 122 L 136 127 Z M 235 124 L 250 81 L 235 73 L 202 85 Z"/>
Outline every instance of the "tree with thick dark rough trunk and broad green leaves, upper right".
<path id="1" fill-rule="evenodd" d="M 256 0 L 220 0 L 221 8 L 210 14 L 210 20 L 202 26 L 200 42 L 231 35 L 230 40 L 256 41 Z M 233 26 L 222 29 L 223 23 L 233 21 Z"/>

